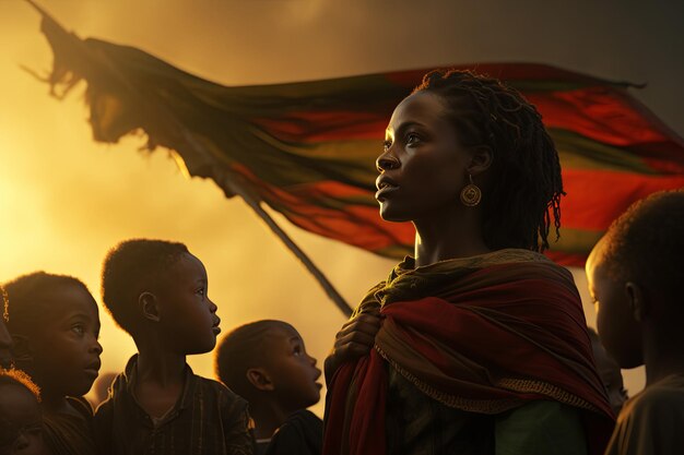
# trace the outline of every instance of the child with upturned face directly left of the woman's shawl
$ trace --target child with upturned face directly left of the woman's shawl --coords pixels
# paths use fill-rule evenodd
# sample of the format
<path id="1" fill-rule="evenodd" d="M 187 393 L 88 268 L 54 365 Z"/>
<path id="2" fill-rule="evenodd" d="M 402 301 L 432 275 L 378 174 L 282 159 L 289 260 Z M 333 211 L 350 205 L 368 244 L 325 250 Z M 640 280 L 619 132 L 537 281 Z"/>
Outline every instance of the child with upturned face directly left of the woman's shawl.
<path id="1" fill-rule="evenodd" d="M 321 453 L 322 421 L 306 410 L 320 399 L 321 371 L 292 325 L 258 321 L 234 330 L 219 346 L 216 373 L 249 402 L 257 453 Z"/>

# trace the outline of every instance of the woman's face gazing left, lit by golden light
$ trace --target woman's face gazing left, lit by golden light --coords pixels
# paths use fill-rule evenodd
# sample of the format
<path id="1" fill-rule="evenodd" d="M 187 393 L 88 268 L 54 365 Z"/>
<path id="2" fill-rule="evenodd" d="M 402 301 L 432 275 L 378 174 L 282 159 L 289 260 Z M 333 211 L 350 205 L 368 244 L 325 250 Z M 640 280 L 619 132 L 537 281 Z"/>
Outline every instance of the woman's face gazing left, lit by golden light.
<path id="1" fill-rule="evenodd" d="M 439 95 L 417 92 L 397 106 L 378 157 L 376 199 L 389 221 L 417 221 L 460 209 L 471 152 L 459 143 Z"/>

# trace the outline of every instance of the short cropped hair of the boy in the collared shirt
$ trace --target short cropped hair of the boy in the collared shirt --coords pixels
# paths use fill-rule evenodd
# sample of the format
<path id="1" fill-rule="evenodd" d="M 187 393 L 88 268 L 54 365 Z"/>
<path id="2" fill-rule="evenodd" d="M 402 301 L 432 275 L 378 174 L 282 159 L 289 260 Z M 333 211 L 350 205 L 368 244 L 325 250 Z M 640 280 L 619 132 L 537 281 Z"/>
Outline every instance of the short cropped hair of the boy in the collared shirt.
<path id="1" fill-rule="evenodd" d="M 138 325 L 138 296 L 154 286 L 188 248 L 166 240 L 132 239 L 113 248 L 102 270 L 102 298 L 116 323 L 132 334 Z"/>

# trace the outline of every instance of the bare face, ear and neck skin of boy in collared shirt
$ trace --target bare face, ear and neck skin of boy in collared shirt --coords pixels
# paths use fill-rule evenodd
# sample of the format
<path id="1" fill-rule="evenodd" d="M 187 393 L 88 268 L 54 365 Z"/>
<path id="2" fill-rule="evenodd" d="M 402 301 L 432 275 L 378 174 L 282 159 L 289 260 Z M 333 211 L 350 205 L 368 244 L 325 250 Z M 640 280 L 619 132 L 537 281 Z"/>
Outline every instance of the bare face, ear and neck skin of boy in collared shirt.
<path id="1" fill-rule="evenodd" d="M 142 321 L 134 337 L 139 352 L 134 394 L 150 416 L 161 417 L 180 398 L 186 356 L 213 349 L 220 320 L 207 296 L 207 271 L 191 254 L 149 289 L 138 301 Z"/>

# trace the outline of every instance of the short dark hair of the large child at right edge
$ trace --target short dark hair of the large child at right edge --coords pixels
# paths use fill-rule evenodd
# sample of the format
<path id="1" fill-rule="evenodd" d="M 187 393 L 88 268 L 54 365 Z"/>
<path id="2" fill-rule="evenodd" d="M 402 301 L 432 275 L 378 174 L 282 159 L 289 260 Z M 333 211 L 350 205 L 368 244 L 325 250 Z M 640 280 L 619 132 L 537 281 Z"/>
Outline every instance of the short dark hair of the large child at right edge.
<path id="1" fill-rule="evenodd" d="M 610 276 L 679 300 L 684 283 L 684 191 L 661 191 L 637 201 L 613 221 L 602 242 L 601 263 Z"/>

